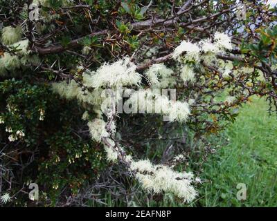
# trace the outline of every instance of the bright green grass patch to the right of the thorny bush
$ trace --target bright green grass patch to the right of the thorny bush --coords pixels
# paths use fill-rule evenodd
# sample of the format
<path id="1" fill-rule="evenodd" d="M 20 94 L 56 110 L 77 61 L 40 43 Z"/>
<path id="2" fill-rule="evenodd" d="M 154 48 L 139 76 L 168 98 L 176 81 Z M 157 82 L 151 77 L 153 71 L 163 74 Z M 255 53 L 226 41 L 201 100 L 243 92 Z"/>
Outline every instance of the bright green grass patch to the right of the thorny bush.
<path id="1" fill-rule="evenodd" d="M 224 132 L 229 144 L 209 157 L 200 187 L 201 206 L 277 206 L 277 116 L 267 114 L 263 99 L 242 108 Z M 237 184 L 247 186 L 238 200 Z"/>

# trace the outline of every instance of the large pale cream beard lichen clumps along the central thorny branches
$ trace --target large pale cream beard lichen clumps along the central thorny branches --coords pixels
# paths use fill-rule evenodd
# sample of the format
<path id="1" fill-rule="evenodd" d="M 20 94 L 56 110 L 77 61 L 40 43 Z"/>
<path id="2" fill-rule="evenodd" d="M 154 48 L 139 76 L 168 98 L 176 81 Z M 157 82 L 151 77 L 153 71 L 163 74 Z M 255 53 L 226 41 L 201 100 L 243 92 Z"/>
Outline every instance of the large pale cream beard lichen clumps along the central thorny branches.
<path id="1" fill-rule="evenodd" d="M 168 78 L 175 78 L 173 80 L 175 84 L 177 81 L 193 81 L 195 77 L 193 68 L 201 66 L 200 61 L 205 58 L 204 55 L 215 57 L 217 52 L 223 52 L 230 47 L 231 39 L 222 33 L 215 34 L 214 43 L 211 40 L 201 41 L 199 44 L 183 41 L 180 46 L 175 48 L 172 56 L 173 59 L 177 59 L 179 75 L 174 76 L 175 71 L 167 68 L 165 64 L 153 64 L 145 71 L 150 88 L 143 86 L 141 75 L 136 73 L 136 65 L 128 57 L 125 57 L 111 64 L 102 64 L 96 71 L 85 71 L 84 86 L 93 88 L 88 95 L 83 95 L 82 89 L 74 81 L 69 84 L 54 83 L 53 90 L 67 99 L 76 98 L 81 103 L 87 102 L 93 105 L 94 112 L 98 113 L 98 117 L 89 120 L 89 132 L 92 140 L 104 145 L 109 162 L 125 164 L 129 173 L 134 175 L 143 189 L 147 191 L 152 193 L 169 192 L 182 198 L 184 202 L 191 202 L 197 196 L 197 191 L 193 186 L 195 183 L 193 173 L 177 172 L 170 166 L 154 165 L 149 160 L 135 160 L 134 157 L 128 155 L 115 138 L 118 99 L 111 97 L 108 102 L 106 100 L 105 108 L 102 108 L 104 99 L 99 98 L 99 90 L 102 90 L 101 88 L 116 89 L 117 86 L 127 88 L 135 86 L 140 90 L 130 92 L 126 102 L 128 106 L 132 104 L 132 108 L 139 108 L 140 111 L 153 111 L 155 108 L 157 113 L 167 115 L 170 122 L 186 122 L 190 116 L 189 104 L 179 100 L 171 101 L 168 97 L 159 95 L 159 91 L 163 88 L 161 82 Z M 195 65 L 192 65 L 191 61 Z M 143 104 L 138 101 L 143 101 Z M 157 106 L 157 104 L 159 105 Z M 84 115 L 83 119 L 89 119 L 87 112 Z M 107 122 L 104 119 L 107 119 Z"/>

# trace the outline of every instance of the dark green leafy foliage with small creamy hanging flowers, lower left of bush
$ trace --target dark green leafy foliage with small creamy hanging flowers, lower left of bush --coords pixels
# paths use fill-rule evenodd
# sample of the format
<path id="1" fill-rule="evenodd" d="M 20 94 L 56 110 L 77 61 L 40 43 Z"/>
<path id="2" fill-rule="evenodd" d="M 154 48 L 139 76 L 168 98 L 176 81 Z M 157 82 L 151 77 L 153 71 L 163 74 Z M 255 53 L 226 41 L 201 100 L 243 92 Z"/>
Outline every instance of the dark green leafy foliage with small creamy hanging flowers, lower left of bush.
<path id="1" fill-rule="evenodd" d="M 6 153 L 0 157 L 10 171 L 3 177 L 12 179 L 12 189 L 4 182 L 2 190 L 11 191 L 10 195 L 21 188 L 28 192 L 28 183 L 35 182 L 40 193 L 47 193 L 41 194 L 41 200 L 55 205 L 62 191 L 76 194 L 83 184 L 98 177 L 106 164 L 105 155 L 87 135 L 78 135 L 77 131 L 86 134 L 87 128 L 82 126 L 82 110 L 75 102 L 61 100 L 46 84 L 15 79 L 2 81 L 0 94 L 4 121 L 0 124 L 0 149 Z M 39 120 L 41 109 L 45 111 L 43 120 Z M 9 127 L 12 133 L 6 132 Z M 24 131 L 25 136 L 8 142 L 8 136 L 17 131 Z M 17 198 L 22 200 L 17 204 L 28 202 L 26 193 Z"/>

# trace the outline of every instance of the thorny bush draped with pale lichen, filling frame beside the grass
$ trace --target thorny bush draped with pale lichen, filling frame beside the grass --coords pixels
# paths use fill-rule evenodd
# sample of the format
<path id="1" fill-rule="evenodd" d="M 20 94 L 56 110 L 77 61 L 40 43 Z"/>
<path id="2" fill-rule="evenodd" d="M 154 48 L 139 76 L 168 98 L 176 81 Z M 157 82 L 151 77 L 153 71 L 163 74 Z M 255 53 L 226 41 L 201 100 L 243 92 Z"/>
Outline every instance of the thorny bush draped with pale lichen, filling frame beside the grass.
<path id="1" fill-rule="evenodd" d="M 253 95 L 276 111 L 265 1 L 0 3 L 2 204 L 29 202 L 30 182 L 42 206 L 118 199 L 122 185 L 192 202 L 199 167 L 186 164 L 213 152 L 207 137 Z"/>

